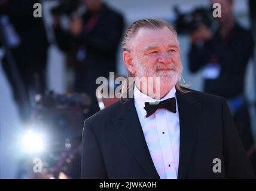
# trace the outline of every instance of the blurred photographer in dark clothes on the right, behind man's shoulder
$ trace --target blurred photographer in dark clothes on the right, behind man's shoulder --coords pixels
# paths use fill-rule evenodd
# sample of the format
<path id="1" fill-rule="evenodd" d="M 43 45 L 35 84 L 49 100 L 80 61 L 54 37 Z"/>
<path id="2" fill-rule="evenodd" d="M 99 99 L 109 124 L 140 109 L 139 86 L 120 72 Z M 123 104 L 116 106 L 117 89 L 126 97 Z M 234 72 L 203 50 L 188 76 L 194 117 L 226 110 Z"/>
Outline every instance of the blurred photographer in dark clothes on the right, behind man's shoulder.
<path id="1" fill-rule="evenodd" d="M 206 93 L 228 100 L 240 138 L 249 156 L 255 155 L 251 119 L 245 98 L 245 72 L 254 53 L 251 31 L 243 28 L 233 16 L 233 0 L 212 0 L 220 3 L 221 17 L 217 30 L 200 23 L 190 32 L 188 54 L 191 72 L 202 69 Z M 255 164 L 254 164 L 255 165 Z"/>

